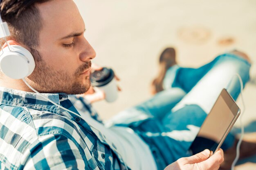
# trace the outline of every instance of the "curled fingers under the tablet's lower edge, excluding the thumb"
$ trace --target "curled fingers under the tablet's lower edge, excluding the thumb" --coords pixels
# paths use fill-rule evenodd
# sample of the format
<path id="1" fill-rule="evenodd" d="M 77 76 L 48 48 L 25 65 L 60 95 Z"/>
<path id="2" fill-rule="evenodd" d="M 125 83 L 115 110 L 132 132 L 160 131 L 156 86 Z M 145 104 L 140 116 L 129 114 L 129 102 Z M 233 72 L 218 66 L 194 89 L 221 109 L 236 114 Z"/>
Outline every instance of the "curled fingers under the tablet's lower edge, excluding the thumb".
<path id="1" fill-rule="evenodd" d="M 212 170 L 218 168 L 220 163 L 224 161 L 223 150 L 218 150 L 215 154 L 213 154 L 209 159 L 198 163 L 203 170 Z"/>

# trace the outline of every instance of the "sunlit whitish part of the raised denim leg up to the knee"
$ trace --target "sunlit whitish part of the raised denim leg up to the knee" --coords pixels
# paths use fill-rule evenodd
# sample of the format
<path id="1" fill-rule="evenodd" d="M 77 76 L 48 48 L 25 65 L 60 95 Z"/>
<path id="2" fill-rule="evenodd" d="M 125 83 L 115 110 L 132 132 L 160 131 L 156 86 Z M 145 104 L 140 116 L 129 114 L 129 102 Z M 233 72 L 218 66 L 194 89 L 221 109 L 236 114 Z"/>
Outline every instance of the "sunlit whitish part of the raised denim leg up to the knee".
<path id="1" fill-rule="evenodd" d="M 240 83 L 235 74 L 241 76 L 245 85 L 249 81 L 250 66 L 246 60 L 234 54 L 218 56 L 211 65 L 211 69 L 172 109 L 172 112 L 185 105 L 198 105 L 208 114 L 223 88 L 226 88 L 236 100 L 240 94 Z M 187 80 L 188 84 L 190 82 L 191 80 Z"/>

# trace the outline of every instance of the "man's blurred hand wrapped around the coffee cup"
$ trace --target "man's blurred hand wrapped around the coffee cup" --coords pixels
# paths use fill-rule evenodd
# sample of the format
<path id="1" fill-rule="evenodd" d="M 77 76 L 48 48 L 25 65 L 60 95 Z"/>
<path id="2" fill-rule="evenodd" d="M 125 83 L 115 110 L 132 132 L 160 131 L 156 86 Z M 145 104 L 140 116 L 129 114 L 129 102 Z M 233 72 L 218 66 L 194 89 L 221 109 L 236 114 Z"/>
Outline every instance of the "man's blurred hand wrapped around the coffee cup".
<path id="1" fill-rule="evenodd" d="M 92 72 L 99 71 L 99 70 L 102 70 L 102 69 L 103 68 L 101 66 L 92 63 L 92 69 L 91 69 Z M 117 81 L 120 80 L 116 75 L 115 75 L 115 79 Z M 117 86 L 117 89 L 118 89 L 118 91 L 121 91 L 121 88 L 119 86 Z M 100 89 L 94 89 L 92 86 L 90 87 L 90 89 L 85 94 L 81 94 L 81 95 L 77 95 L 77 96 L 84 97 L 90 103 L 97 102 L 97 101 L 105 99 L 104 92 Z"/>

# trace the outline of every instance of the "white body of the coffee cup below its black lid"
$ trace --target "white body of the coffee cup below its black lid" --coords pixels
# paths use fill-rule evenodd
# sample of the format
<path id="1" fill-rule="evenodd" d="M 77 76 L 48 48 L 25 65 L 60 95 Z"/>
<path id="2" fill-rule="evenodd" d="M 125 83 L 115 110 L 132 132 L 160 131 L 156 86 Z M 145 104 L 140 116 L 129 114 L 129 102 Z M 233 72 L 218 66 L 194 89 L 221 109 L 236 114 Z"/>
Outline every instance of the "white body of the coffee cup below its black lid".
<path id="1" fill-rule="evenodd" d="M 118 89 L 115 78 L 113 78 L 112 81 L 110 81 L 108 84 L 97 88 L 105 92 L 105 100 L 107 102 L 114 102 L 117 100 Z"/>

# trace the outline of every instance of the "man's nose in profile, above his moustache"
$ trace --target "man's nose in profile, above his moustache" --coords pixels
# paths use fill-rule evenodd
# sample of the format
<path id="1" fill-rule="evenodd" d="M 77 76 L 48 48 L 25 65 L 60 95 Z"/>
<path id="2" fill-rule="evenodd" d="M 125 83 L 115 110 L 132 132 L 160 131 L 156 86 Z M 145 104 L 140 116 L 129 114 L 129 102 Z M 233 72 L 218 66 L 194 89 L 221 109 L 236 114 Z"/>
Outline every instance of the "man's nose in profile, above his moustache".
<path id="1" fill-rule="evenodd" d="M 79 55 L 79 59 L 81 61 L 89 61 L 96 57 L 96 52 L 89 44 L 89 42 L 85 39 L 85 46 L 83 46 L 82 52 Z"/>

